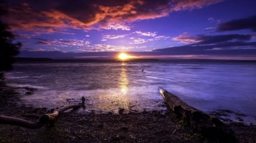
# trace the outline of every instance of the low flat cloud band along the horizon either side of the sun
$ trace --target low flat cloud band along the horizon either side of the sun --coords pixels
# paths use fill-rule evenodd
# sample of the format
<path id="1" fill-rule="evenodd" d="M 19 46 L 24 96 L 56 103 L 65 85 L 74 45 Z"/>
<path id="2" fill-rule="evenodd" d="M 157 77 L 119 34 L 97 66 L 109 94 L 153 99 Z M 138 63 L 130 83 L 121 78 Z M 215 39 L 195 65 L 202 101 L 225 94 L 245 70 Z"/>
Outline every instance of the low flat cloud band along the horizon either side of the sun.
<path id="1" fill-rule="evenodd" d="M 168 51 L 144 51 L 144 52 L 129 52 L 131 55 L 138 55 L 140 58 L 188 58 L 191 62 L 192 58 L 203 59 L 247 59 L 255 60 L 256 49 L 241 49 L 241 50 L 212 50 L 206 52 L 192 53 L 172 53 Z M 20 51 L 19 57 L 31 57 L 31 58 L 53 58 L 53 59 L 73 59 L 73 58 L 115 58 L 118 52 L 115 51 L 84 51 L 80 53 L 63 52 L 63 51 Z"/>

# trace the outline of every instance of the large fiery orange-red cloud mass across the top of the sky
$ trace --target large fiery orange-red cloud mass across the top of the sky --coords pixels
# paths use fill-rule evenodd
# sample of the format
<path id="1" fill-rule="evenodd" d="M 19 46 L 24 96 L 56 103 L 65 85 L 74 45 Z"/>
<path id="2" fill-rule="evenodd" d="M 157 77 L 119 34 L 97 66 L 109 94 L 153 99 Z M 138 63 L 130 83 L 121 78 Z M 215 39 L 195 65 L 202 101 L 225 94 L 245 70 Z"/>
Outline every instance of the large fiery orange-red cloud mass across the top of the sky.
<path id="1" fill-rule="evenodd" d="M 131 0 L 131 1 L 68 1 L 10 0 L 5 21 L 13 30 L 60 32 L 74 29 L 130 30 L 129 23 L 168 16 L 170 12 L 193 10 L 222 0 Z"/>

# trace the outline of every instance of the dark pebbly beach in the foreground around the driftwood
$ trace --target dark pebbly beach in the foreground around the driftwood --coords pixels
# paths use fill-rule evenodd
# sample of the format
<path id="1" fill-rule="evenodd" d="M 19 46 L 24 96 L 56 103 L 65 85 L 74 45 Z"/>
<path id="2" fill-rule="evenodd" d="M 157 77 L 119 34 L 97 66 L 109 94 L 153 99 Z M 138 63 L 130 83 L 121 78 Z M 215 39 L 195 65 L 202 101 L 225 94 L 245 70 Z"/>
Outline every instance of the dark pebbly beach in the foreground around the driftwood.
<path id="1" fill-rule="evenodd" d="M 1 86 L 0 89 L 1 115 L 35 121 L 34 115 L 49 112 L 46 108 L 18 106 L 19 93 L 14 88 Z M 255 140 L 256 125 L 236 122 L 228 125 L 238 142 Z M 0 133 L 0 142 L 213 142 L 184 127 L 171 111 L 120 115 L 65 112 L 54 128 L 26 129 L 1 124 Z"/>

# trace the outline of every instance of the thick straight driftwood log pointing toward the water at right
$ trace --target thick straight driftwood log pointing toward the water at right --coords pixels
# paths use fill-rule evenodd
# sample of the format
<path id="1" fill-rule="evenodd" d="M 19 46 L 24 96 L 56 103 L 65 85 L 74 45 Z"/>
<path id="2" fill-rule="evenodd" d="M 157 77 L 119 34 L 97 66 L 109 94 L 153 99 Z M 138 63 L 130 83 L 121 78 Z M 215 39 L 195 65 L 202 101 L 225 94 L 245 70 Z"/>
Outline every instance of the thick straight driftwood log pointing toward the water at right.
<path id="1" fill-rule="evenodd" d="M 226 127 L 219 119 L 187 105 L 179 97 L 166 90 L 159 88 L 159 92 L 177 118 L 190 125 L 194 131 L 220 142 L 237 142 L 232 129 Z"/>

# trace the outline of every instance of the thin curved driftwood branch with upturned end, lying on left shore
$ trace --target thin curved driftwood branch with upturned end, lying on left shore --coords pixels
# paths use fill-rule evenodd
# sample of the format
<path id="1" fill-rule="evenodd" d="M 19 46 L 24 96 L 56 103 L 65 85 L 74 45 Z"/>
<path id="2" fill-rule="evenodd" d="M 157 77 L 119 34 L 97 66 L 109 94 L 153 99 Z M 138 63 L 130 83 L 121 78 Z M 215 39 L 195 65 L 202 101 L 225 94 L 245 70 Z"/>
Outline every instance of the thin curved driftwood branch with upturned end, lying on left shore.
<path id="1" fill-rule="evenodd" d="M 13 118 L 10 116 L 0 115 L 0 124 L 19 125 L 21 127 L 30 128 L 30 129 L 41 128 L 44 125 L 46 125 L 47 123 L 49 123 L 50 126 L 53 126 L 55 124 L 57 116 L 59 116 L 59 114 L 61 112 L 64 112 L 65 110 L 69 110 L 69 109 L 76 110 L 76 109 L 79 109 L 80 107 L 85 107 L 85 98 L 84 97 L 82 97 L 81 103 L 62 107 L 58 110 L 53 111 L 51 114 L 41 115 L 37 122 L 30 122 L 28 120 L 23 120 L 23 119 L 19 119 L 19 118 Z"/>

